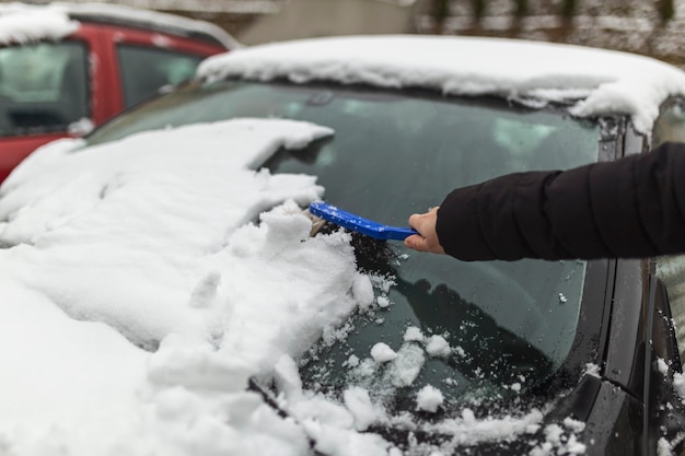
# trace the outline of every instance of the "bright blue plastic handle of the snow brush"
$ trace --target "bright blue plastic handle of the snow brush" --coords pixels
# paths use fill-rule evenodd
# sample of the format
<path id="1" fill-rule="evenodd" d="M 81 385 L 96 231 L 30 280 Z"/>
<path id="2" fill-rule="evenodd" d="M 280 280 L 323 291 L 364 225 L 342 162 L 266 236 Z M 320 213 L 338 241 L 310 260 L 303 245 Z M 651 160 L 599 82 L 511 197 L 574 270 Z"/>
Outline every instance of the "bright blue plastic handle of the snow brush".
<path id="1" fill-rule="evenodd" d="M 336 225 L 365 234 L 376 239 L 404 241 L 407 236 L 418 234 L 416 230 L 383 225 L 372 220 L 346 212 L 324 201 L 312 202 L 310 204 L 310 213 L 328 222 L 333 222 Z"/>

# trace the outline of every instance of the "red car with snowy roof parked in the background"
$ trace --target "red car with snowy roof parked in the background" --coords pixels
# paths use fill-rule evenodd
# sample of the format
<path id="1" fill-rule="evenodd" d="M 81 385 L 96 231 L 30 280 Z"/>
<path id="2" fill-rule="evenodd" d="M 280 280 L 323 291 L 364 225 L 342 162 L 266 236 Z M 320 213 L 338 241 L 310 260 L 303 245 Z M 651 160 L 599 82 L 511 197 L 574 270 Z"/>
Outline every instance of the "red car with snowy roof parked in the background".
<path id="1" fill-rule="evenodd" d="M 111 4 L 0 4 L 0 182 L 239 44 L 204 21 Z"/>

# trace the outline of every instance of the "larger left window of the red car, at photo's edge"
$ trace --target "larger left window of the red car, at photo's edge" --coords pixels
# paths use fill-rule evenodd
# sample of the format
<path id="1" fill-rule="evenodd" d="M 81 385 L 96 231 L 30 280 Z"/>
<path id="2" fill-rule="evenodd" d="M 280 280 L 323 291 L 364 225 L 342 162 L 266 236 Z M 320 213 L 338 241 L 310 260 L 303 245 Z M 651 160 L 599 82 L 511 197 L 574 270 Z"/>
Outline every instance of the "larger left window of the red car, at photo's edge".
<path id="1" fill-rule="evenodd" d="M 77 42 L 0 48 L 0 136 L 68 131 L 89 117 L 86 55 Z"/>

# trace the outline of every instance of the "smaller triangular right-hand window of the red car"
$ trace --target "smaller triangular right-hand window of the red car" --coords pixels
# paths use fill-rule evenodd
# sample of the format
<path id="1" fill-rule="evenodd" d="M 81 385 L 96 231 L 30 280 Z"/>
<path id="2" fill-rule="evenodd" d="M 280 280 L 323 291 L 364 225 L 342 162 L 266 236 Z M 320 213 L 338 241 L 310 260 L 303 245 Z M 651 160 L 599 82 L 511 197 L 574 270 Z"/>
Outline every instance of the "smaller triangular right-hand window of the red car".
<path id="1" fill-rule="evenodd" d="M 152 96 L 164 85 L 176 85 L 190 78 L 202 59 L 162 48 L 130 45 L 118 45 L 117 55 L 126 107 Z"/>

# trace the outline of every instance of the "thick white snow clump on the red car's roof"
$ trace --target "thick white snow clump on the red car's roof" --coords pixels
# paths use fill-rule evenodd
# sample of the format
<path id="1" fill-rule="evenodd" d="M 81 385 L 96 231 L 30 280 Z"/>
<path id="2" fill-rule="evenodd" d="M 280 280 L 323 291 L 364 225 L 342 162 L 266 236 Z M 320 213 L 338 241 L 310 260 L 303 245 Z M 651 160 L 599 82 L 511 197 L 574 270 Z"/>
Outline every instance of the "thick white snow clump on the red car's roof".
<path id="1" fill-rule="evenodd" d="M 62 11 L 0 4 L 0 45 L 60 39 L 78 28 L 79 23 Z"/>

